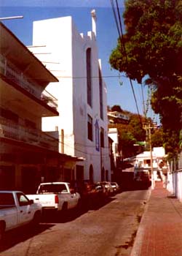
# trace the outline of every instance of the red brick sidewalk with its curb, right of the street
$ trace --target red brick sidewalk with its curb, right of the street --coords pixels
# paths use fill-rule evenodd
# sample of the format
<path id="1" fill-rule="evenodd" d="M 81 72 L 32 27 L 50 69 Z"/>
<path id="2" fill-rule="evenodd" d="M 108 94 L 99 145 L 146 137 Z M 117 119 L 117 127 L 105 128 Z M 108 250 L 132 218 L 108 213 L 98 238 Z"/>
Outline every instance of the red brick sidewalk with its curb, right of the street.
<path id="1" fill-rule="evenodd" d="M 162 182 L 151 190 L 131 256 L 182 256 L 182 203 Z"/>

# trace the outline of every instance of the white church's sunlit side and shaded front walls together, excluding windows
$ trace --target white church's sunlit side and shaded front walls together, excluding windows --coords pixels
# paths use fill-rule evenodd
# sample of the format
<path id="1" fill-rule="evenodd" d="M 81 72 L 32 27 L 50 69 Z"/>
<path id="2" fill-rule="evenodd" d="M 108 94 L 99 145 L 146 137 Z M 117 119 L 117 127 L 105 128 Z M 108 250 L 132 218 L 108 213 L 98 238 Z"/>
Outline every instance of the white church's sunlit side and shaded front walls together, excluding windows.
<path id="1" fill-rule="evenodd" d="M 100 119 L 99 80 L 98 80 L 98 49 L 95 36 L 89 32 L 80 35 L 71 17 L 41 20 L 33 23 L 33 45 L 43 47 L 33 48 L 34 53 L 44 53 L 37 57 L 47 63 L 46 66 L 60 80 L 57 85 L 50 84 L 50 91 L 58 99 L 59 117 L 44 118 L 44 131 L 64 129 L 64 149 L 66 154 L 84 157 L 85 179 L 89 178 L 89 167 L 92 164 L 95 181 L 100 181 L 100 157 L 105 170 L 110 173 L 108 157 L 108 120 L 106 85 L 103 83 L 104 118 Z M 44 46 L 45 45 L 45 46 Z M 86 50 L 92 48 L 92 108 L 87 105 Z M 43 62 L 44 63 L 44 62 Z M 93 120 L 93 141 L 87 139 L 87 114 Z M 102 153 L 95 150 L 95 121 L 105 130 L 105 148 Z"/>

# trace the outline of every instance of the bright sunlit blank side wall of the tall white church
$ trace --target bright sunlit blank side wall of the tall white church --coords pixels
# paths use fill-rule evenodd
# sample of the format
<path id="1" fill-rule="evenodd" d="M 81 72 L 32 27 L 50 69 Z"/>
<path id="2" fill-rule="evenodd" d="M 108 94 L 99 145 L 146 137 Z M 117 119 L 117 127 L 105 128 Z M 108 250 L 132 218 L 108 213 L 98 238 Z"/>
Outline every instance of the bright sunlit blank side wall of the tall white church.
<path id="1" fill-rule="evenodd" d="M 72 18 L 53 18 L 33 22 L 33 45 L 42 45 L 34 51 L 43 53 L 38 55 L 41 61 L 46 61 L 47 68 L 60 80 L 55 84 L 50 83 L 50 91 L 58 99 L 59 117 L 43 118 L 44 131 L 64 130 L 65 153 L 74 155 L 74 125 L 73 125 L 73 86 L 72 86 Z M 44 47 L 45 45 L 45 47 Z M 47 63 L 52 62 L 52 63 Z"/>

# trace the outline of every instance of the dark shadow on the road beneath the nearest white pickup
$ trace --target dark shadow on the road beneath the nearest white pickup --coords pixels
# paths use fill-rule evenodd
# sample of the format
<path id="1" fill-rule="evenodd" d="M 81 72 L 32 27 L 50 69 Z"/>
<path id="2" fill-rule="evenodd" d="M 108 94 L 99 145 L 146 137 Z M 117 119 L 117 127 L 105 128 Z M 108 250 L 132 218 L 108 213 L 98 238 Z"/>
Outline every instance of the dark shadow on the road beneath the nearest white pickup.
<path id="1" fill-rule="evenodd" d="M 16 244 L 19 244 L 39 233 L 44 232 L 44 230 L 49 229 L 53 225 L 50 224 L 40 224 L 36 227 L 31 227 L 30 225 L 25 225 L 23 227 L 18 227 L 14 230 L 7 231 L 1 240 L 0 252 L 3 252 Z"/>

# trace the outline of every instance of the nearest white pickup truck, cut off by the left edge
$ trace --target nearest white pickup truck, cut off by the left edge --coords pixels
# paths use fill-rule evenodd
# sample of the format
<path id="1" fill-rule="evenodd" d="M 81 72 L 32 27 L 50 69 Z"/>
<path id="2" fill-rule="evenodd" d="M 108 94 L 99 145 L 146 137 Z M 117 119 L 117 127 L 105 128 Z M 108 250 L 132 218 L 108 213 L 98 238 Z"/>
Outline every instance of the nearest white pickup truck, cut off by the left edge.
<path id="1" fill-rule="evenodd" d="M 41 205 L 33 203 L 23 192 L 0 191 L 0 240 L 7 230 L 28 224 L 38 224 L 41 219 Z"/>

